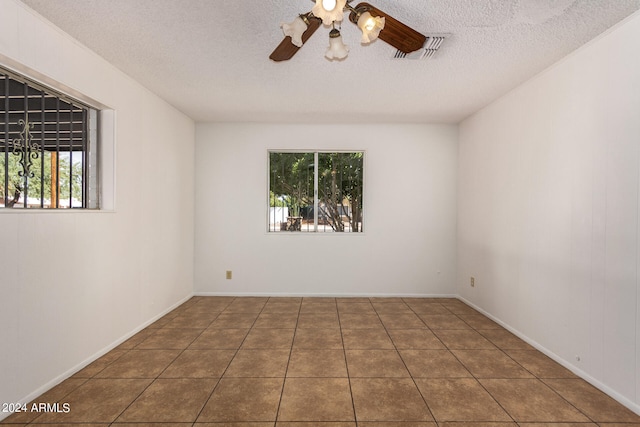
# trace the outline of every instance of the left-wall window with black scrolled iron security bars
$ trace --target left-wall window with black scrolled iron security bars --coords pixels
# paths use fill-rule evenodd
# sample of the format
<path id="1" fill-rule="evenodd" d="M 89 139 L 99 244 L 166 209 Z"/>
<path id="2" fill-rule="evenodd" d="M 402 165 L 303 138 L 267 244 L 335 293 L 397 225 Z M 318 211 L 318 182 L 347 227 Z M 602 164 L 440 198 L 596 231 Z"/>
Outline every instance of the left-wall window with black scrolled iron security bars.
<path id="1" fill-rule="evenodd" d="M 0 69 L 0 209 L 98 207 L 97 111 Z"/>

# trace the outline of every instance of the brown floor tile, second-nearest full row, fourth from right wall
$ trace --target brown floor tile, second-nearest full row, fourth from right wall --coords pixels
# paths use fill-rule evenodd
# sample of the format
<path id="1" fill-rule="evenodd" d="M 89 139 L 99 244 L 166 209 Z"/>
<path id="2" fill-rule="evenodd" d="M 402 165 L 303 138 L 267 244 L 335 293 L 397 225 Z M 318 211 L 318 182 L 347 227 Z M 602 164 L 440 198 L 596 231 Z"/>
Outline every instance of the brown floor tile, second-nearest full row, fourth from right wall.
<path id="1" fill-rule="evenodd" d="M 408 377 L 409 371 L 396 350 L 347 350 L 349 377 Z"/>

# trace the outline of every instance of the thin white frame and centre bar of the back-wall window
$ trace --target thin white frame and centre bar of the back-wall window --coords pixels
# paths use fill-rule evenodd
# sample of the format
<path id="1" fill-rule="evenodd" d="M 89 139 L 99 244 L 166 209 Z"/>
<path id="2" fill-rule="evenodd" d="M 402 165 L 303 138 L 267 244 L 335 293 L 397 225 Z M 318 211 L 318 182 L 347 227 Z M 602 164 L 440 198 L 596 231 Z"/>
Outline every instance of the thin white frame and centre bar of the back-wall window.
<path id="1" fill-rule="evenodd" d="M 278 230 L 276 229 L 277 227 L 277 222 L 271 223 L 271 217 L 272 217 L 272 213 L 271 213 L 271 154 L 272 153 L 282 153 L 282 154 L 313 154 L 314 155 L 314 168 L 313 168 L 313 172 L 314 172 L 314 177 L 313 177 L 313 183 L 314 183 L 314 188 L 313 188 L 313 230 Z M 360 198 L 361 198 L 361 203 L 360 203 L 360 213 L 359 213 L 359 230 L 358 231 L 336 231 L 336 230 L 330 230 L 327 231 L 326 230 L 326 225 L 324 225 L 324 230 L 321 231 L 319 230 L 319 223 L 318 223 L 318 214 L 320 212 L 320 206 L 319 206 L 319 202 L 320 202 L 320 197 L 318 194 L 318 190 L 319 190 L 319 156 L 321 154 L 361 154 L 362 155 L 362 164 L 361 164 L 361 191 L 360 191 Z M 313 235 L 364 235 L 365 231 L 364 231 L 364 224 L 365 224 L 365 211 L 366 211 L 366 197 L 365 197 L 365 189 L 366 189 L 366 179 L 365 179 L 365 171 L 367 170 L 366 167 L 366 159 L 367 159 L 367 151 L 364 149 L 341 149 L 341 150 L 331 150 L 331 149 L 268 149 L 267 150 L 267 224 L 266 224 L 266 233 L 267 234 L 272 234 L 272 235 L 309 235 L 309 234 L 313 234 Z M 344 206 L 344 205 L 342 205 Z"/>

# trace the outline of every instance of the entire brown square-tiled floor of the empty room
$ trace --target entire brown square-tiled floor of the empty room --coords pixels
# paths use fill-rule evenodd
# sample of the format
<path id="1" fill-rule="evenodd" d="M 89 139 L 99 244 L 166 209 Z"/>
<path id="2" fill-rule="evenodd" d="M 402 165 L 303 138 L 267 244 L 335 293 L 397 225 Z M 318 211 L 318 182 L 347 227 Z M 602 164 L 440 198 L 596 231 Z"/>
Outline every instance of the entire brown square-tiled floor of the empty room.
<path id="1" fill-rule="evenodd" d="M 194 297 L 35 401 L 4 423 L 640 426 L 455 299 Z"/>

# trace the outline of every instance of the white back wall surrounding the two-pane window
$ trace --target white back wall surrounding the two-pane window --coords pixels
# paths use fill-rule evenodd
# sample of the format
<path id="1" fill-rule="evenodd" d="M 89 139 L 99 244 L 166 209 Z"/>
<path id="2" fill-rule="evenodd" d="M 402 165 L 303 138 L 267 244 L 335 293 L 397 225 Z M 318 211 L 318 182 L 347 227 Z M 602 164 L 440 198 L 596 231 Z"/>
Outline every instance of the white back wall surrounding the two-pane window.
<path id="1" fill-rule="evenodd" d="M 365 150 L 365 232 L 267 233 L 268 149 Z M 195 292 L 451 294 L 456 159 L 455 126 L 198 124 Z"/>

